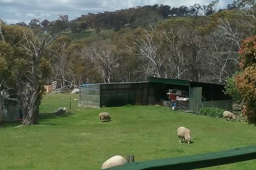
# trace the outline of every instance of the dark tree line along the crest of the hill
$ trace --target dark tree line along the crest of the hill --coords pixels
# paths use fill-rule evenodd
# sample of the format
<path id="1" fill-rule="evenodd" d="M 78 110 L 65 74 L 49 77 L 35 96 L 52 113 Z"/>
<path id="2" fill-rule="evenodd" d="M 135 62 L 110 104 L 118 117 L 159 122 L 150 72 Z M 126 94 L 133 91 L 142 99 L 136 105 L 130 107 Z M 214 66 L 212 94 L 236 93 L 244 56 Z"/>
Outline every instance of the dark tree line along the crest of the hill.
<path id="1" fill-rule="evenodd" d="M 73 33 L 85 31 L 88 28 L 93 29 L 114 29 L 119 31 L 121 28 L 145 27 L 152 19 L 166 19 L 171 17 L 184 17 L 184 16 L 208 16 L 223 10 L 239 9 L 244 4 L 243 1 L 234 1 L 228 4 L 225 9 L 218 9 L 217 5 L 219 0 L 215 0 L 208 5 L 200 5 L 196 3 L 190 7 L 182 5 L 180 7 L 171 7 L 169 5 L 155 4 L 136 6 L 113 12 L 104 11 L 97 14 L 88 13 L 83 14 L 73 20 L 69 20 L 68 15 L 58 15 L 58 19 L 48 21 L 47 19 L 41 20 L 32 19 L 27 25 L 24 22 L 19 22 L 13 25 L 30 27 L 36 33 L 42 31 L 49 32 L 51 35 L 56 35 L 61 31 L 70 30 Z"/>

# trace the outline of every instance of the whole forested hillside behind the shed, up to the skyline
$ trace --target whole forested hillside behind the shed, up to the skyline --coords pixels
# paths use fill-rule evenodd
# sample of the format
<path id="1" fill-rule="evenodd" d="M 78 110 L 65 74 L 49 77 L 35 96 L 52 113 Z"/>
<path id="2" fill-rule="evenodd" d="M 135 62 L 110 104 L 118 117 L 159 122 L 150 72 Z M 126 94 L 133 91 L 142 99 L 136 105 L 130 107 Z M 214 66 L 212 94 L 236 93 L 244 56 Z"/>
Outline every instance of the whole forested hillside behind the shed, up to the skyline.
<path id="1" fill-rule="evenodd" d="M 237 0 L 226 9 L 218 1 L 190 7 L 137 6 L 88 13 L 69 20 L 32 19 L 8 30 L 28 29 L 38 37 L 60 36 L 44 52 L 51 71 L 47 83 L 145 81 L 147 76 L 225 83 L 239 68 L 240 44 L 255 34 L 255 2 Z"/>

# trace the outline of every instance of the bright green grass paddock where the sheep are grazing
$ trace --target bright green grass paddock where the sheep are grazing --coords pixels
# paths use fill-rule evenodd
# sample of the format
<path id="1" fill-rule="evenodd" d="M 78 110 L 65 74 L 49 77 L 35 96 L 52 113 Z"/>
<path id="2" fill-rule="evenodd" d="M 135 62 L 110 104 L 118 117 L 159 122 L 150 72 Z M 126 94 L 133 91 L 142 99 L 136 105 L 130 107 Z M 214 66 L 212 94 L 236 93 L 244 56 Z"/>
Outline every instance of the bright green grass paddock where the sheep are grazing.
<path id="1" fill-rule="evenodd" d="M 134 154 L 136 161 L 214 152 L 256 144 L 255 128 L 242 122 L 169 111 L 161 106 L 123 106 L 85 109 L 73 94 L 44 96 L 40 113 L 58 107 L 71 111 L 66 116 L 45 116 L 39 125 L 0 128 L 0 169 L 97 170 L 114 156 Z M 98 114 L 109 112 L 110 122 Z M 179 143 L 176 129 L 185 126 L 194 143 Z M 256 160 L 207 169 L 255 169 Z"/>

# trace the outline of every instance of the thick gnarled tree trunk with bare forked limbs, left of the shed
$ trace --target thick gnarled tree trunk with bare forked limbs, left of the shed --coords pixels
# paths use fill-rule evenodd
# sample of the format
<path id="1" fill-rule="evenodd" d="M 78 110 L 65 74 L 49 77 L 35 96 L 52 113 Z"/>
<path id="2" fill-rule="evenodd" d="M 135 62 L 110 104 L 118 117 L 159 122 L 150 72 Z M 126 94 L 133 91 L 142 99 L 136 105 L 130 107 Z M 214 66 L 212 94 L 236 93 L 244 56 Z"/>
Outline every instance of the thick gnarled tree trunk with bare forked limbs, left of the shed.
<path id="1" fill-rule="evenodd" d="M 42 44 L 37 46 L 37 42 L 35 41 L 33 43 L 32 40 L 24 33 L 24 38 L 27 41 L 26 45 L 28 47 L 22 44 L 21 46 L 24 47 L 24 49 L 26 49 L 27 53 L 30 55 L 32 66 L 30 72 L 31 74 L 29 75 L 30 78 L 28 78 L 27 76 L 25 76 L 25 78 L 22 78 L 22 72 L 16 70 L 17 91 L 20 105 L 22 106 L 24 114 L 22 125 L 34 125 L 38 123 L 37 113 L 43 95 L 42 85 L 39 84 L 38 80 L 38 69 L 43 55 L 43 51 L 49 44 L 52 43 L 55 38 L 57 38 L 57 36 L 55 36 L 46 46 L 46 37 L 44 37 Z"/>

